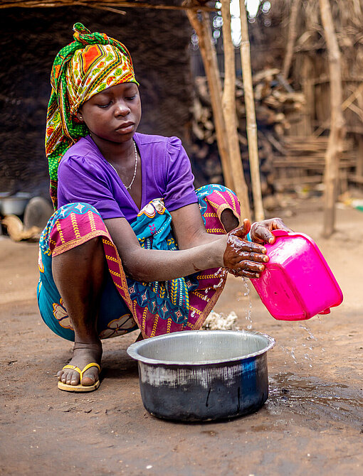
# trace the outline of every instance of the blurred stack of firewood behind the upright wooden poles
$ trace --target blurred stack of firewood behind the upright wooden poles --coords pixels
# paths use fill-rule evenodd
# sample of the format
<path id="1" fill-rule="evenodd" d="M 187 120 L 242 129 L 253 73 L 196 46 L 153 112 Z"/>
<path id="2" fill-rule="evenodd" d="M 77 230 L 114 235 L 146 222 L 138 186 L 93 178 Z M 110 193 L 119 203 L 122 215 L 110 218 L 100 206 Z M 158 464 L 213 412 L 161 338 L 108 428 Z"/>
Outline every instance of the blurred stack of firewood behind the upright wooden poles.
<path id="1" fill-rule="evenodd" d="M 208 158 L 209 170 L 204 171 L 206 180 L 216 182 L 221 178 L 220 166 L 216 161 L 216 131 L 214 129 L 211 102 L 206 77 L 196 77 L 195 96 L 192 114 L 192 132 L 194 155 L 196 159 Z M 290 129 L 294 121 L 301 116 L 305 98 L 295 92 L 283 80 L 280 70 L 269 69 L 253 76 L 253 90 L 256 104 L 256 121 L 258 125 L 258 148 L 261 163 L 261 181 L 263 193 L 267 193 L 273 184 L 273 156 L 284 155 L 282 136 Z M 238 138 L 241 145 L 243 168 L 248 181 L 248 142 L 246 137 L 246 108 L 243 97 L 243 82 L 236 80 L 236 109 L 238 116 Z M 206 146 L 209 144 L 209 146 Z M 217 169 L 214 171 L 214 167 Z M 203 164 L 201 164 L 203 168 Z M 206 167 L 204 167 L 206 168 Z M 210 175 L 211 173 L 211 175 Z"/>

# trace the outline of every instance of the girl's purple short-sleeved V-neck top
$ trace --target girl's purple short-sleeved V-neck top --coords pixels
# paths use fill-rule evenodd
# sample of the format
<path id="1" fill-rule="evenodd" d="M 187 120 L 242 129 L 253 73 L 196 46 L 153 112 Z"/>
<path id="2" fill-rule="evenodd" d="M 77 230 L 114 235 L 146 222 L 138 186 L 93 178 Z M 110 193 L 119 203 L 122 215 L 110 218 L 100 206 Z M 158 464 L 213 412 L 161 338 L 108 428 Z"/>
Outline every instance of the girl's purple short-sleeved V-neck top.
<path id="1" fill-rule="evenodd" d="M 198 202 L 186 151 L 177 137 L 136 133 L 142 170 L 142 204 L 163 198 L 169 212 Z M 86 136 L 68 149 L 58 168 L 58 207 L 72 202 L 93 205 L 103 220 L 125 217 L 132 223 L 140 211 L 117 172 Z"/>

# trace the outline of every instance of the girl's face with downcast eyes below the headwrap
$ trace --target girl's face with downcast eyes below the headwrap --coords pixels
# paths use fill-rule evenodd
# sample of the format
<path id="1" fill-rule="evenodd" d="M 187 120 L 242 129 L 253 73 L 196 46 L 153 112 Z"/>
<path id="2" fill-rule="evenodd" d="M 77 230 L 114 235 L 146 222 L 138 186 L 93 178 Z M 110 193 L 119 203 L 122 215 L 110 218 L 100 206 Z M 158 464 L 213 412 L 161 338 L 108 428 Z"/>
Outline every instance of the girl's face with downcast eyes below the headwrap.
<path id="1" fill-rule="evenodd" d="M 77 113 L 95 139 L 120 144 L 135 134 L 141 119 L 139 88 L 134 82 L 109 87 L 88 99 Z"/>

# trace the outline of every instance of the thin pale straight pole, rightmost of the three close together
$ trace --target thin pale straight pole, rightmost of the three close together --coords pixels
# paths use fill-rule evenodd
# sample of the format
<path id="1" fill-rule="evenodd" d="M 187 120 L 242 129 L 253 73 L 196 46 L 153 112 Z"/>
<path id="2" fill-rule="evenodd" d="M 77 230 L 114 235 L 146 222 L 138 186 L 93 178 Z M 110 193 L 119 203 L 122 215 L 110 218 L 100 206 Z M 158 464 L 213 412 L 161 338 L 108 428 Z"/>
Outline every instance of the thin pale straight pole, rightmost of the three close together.
<path id="1" fill-rule="evenodd" d="M 241 66 L 243 77 L 243 92 L 246 105 L 246 131 L 248 140 L 248 155 L 250 161 L 251 184 L 253 194 L 253 210 L 255 220 L 261 222 L 265 219 L 263 211 L 260 163 L 258 158 L 258 140 L 255 101 L 253 98 L 250 40 L 248 38 L 248 24 L 245 1 L 239 1 L 241 16 Z"/>

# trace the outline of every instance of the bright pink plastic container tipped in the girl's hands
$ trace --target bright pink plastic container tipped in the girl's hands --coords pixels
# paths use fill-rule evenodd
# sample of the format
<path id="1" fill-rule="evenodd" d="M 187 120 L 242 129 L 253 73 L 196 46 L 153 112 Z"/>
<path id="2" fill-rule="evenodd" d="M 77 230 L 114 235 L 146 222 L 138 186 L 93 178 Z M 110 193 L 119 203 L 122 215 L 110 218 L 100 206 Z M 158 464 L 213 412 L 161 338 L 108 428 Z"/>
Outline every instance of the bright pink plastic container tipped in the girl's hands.
<path id="1" fill-rule="evenodd" d="M 315 242 L 303 233 L 276 229 L 273 234 L 275 243 L 265 244 L 270 261 L 260 278 L 251 279 L 270 314 L 305 320 L 340 305 L 342 291 Z"/>

